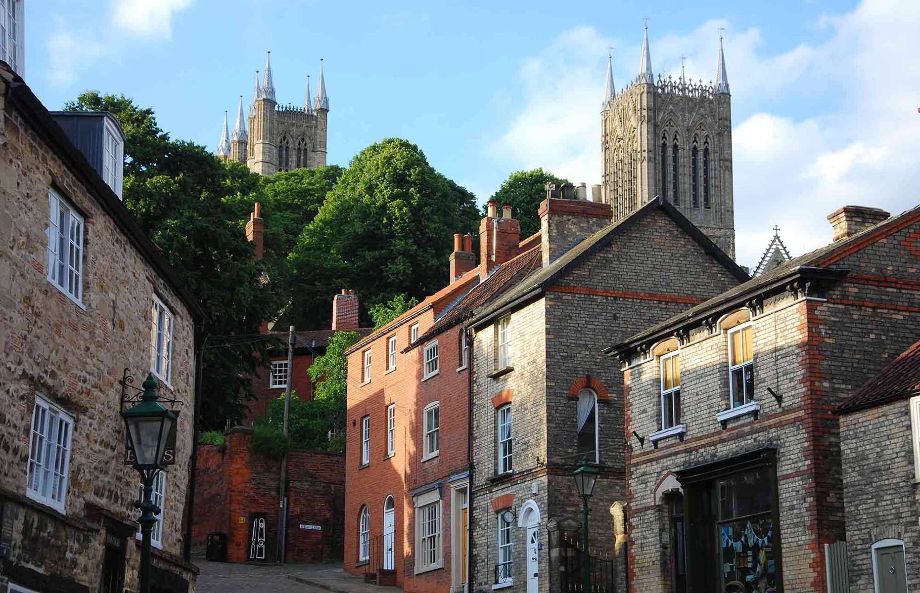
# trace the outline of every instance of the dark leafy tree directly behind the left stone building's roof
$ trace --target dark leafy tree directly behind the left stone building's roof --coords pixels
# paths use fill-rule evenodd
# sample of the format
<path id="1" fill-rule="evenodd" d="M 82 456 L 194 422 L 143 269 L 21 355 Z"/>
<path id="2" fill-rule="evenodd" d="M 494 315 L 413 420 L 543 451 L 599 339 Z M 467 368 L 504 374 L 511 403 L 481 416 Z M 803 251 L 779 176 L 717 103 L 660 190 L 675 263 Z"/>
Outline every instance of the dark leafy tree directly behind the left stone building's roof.
<path id="1" fill-rule="evenodd" d="M 223 428 L 243 415 L 264 352 L 264 341 L 247 336 L 258 334 L 283 298 L 260 281 L 262 263 L 239 212 L 259 199 L 259 176 L 224 165 L 203 146 L 171 140 L 152 109 L 123 95 L 90 91 L 66 108 L 110 111 L 126 132 L 124 203 L 207 312 L 201 422 Z"/>

